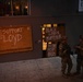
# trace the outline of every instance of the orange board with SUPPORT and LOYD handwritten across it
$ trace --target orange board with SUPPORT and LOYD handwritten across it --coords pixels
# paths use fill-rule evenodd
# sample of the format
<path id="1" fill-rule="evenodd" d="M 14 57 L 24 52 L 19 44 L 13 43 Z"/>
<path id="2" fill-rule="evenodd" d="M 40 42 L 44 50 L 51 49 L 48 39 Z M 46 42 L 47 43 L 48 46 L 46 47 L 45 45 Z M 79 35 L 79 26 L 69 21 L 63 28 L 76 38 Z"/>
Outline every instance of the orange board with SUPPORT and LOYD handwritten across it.
<path id="1" fill-rule="evenodd" d="M 32 49 L 32 28 L 29 25 L 0 27 L 0 54 Z"/>

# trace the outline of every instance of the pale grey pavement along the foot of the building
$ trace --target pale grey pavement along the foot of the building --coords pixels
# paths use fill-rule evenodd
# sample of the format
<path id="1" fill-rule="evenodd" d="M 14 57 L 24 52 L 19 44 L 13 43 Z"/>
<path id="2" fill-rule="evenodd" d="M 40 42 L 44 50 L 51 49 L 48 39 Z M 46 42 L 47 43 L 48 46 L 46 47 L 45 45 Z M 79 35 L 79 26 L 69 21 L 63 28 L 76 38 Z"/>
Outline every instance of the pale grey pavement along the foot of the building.
<path id="1" fill-rule="evenodd" d="M 75 58 L 73 58 L 75 71 Z M 0 63 L 0 82 L 83 82 L 79 77 L 61 75 L 59 57 Z"/>

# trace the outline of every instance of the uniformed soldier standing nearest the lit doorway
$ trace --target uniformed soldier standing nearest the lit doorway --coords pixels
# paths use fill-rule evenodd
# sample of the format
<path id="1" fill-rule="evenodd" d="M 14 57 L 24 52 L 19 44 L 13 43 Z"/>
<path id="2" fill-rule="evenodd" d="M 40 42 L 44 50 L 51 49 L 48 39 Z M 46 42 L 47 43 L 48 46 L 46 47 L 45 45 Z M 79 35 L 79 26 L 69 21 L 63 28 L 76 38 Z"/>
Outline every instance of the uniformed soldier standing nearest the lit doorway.
<path id="1" fill-rule="evenodd" d="M 70 57 L 71 48 L 67 43 L 67 37 L 62 37 L 59 46 L 59 56 L 61 57 L 61 72 L 62 75 L 70 75 L 72 69 L 72 59 Z M 66 73 L 67 70 L 67 73 Z"/>

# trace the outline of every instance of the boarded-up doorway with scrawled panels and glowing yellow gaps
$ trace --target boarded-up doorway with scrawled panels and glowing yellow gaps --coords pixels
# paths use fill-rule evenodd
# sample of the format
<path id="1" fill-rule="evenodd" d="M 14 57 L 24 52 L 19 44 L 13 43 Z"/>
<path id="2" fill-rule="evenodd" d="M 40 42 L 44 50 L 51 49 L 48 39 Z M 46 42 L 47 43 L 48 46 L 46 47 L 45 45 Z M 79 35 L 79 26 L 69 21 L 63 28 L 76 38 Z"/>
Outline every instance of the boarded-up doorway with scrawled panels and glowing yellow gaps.
<path id="1" fill-rule="evenodd" d="M 42 25 L 44 58 L 58 56 L 59 40 L 64 35 L 66 35 L 66 25 L 62 23 Z"/>

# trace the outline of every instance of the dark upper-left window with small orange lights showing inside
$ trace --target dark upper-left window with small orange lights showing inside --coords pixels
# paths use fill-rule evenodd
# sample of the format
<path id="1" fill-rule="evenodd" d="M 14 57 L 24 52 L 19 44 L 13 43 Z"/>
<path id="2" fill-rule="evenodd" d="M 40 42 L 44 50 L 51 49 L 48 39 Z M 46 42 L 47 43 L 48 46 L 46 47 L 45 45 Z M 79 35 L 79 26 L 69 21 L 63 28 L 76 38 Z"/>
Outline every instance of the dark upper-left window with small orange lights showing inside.
<path id="1" fill-rule="evenodd" d="M 0 16 L 29 15 L 29 0 L 0 0 Z"/>

